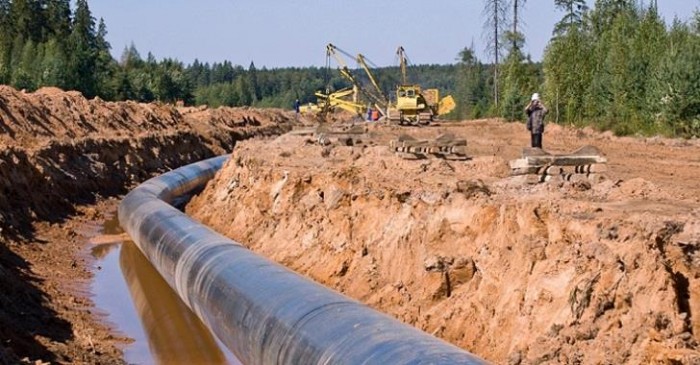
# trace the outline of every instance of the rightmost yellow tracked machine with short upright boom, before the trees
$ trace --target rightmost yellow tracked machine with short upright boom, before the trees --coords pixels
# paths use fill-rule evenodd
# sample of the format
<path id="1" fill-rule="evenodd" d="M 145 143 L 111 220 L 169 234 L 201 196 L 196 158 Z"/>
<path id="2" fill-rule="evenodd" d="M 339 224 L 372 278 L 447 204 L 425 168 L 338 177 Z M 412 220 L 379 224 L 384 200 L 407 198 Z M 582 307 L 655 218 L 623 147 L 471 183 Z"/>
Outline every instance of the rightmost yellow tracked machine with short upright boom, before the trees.
<path id="1" fill-rule="evenodd" d="M 437 116 L 454 110 L 454 98 L 448 95 L 440 99 L 438 89 L 422 90 L 419 85 L 408 83 L 408 57 L 403 47 L 399 47 L 396 55 L 400 61 L 401 85 L 396 88 L 396 104 L 387 109 L 389 121 L 398 124 L 421 125 L 429 124 Z"/>

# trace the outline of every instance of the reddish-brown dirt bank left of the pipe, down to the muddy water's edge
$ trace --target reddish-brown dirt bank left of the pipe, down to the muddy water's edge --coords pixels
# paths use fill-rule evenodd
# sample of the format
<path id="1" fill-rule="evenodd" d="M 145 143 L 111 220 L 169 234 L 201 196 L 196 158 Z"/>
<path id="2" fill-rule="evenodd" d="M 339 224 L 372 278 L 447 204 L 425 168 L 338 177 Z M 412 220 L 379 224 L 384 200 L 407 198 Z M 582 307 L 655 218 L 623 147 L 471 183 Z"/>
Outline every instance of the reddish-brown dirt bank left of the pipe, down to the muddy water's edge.
<path id="1" fill-rule="evenodd" d="M 154 173 L 291 129 L 282 110 L 180 108 L 0 86 L 0 363 L 121 362 L 90 314 L 85 208 Z M 82 218 L 81 218 L 82 217 Z M 81 223 L 82 222 L 82 223 Z"/>

